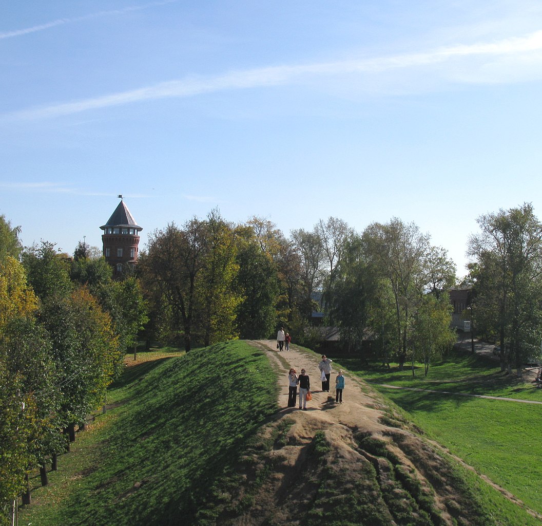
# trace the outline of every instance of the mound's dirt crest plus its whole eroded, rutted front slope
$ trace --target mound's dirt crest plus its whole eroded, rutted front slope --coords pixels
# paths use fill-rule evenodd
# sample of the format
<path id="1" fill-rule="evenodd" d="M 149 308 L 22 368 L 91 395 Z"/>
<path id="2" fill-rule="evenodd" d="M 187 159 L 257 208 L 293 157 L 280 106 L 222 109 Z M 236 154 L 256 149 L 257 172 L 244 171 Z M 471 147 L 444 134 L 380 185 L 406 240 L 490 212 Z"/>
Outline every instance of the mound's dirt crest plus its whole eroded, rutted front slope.
<path id="1" fill-rule="evenodd" d="M 279 371 L 280 409 L 239 466 L 241 483 L 230 496 L 234 512 L 224 515 L 224 524 L 320 524 L 335 514 L 344 524 L 375 526 L 477 523 L 481 511 L 457 478 L 455 460 L 369 384 L 345 374 L 344 403 L 336 404 L 337 370 L 331 392 L 322 392 L 317 357 L 292 345 L 279 352 L 274 341 L 251 344 Z M 306 411 L 286 407 L 291 367 L 311 378 Z"/>

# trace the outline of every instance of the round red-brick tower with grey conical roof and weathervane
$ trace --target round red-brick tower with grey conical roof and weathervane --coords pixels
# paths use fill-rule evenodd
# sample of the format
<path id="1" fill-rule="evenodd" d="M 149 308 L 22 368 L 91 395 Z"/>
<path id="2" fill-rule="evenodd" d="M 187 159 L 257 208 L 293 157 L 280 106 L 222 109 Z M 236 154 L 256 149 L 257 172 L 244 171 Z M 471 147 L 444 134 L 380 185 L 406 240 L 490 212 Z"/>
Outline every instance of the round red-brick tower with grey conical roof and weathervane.
<path id="1" fill-rule="evenodd" d="M 117 279 L 128 270 L 128 266 L 133 268 L 137 263 L 139 232 L 143 230 L 122 201 L 122 196 L 119 197 L 119 206 L 109 221 L 100 227 L 104 230 L 102 243 L 105 260 L 113 267 L 113 277 Z"/>

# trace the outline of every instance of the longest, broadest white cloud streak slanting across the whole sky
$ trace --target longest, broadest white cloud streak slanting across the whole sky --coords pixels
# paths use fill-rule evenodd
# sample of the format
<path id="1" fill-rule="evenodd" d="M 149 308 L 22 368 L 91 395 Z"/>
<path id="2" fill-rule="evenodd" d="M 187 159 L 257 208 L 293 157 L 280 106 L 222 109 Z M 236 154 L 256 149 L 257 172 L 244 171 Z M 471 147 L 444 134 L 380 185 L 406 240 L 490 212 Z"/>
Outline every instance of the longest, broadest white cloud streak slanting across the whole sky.
<path id="1" fill-rule="evenodd" d="M 233 71 L 222 75 L 196 77 L 192 76 L 182 80 L 161 82 L 159 84 L 103 95 L 91 99 L 83 99 L 74 102 L 65 102 L 45 107 L 29 108 L 11 114 L 4 114 L 15 119 L 41 119 L 57 117 L 88 110 L 130 104 L 152 99 L 162 98 L 186 98 L 204 93 L 220 92 L 234 89 L 247 89 L 266 86 L 279 86 L 300 82 L 309 82 L 310 79 L 334 78 L 348 74 L 378 74 L 398 69 L 427 68 L 431 65 L 447 63 L 454 59 L 484 59 L 491 60 L 494 64 L 498 59 L 509 61 L 511 57 L 526 56 L 534 57 L 537 63 L 542 63 L 542 30 L 524 35 L 512 37 L 496 42 L 481 42 L 473 44 L 458 44 L 436 48 L 428 52 L 397 54 L 363 58 L 357 60 L 343 60 L 336 62 L 321 62 L 292 66 L 272 66 L 257 69 Z M 469 63 L 470 64 L 470 63 Z M 484 63 L 478 66 L 482 68 Z M 537 68 L 530 68 L 535 73 Z M 455 64 L 457 67 L 457 64 Z M 470 64 L 470 67 L 473 67 Z M 538 74 L 538 73 L 537 73 Z M 473 79 L 476 75 L 473 75 Z M 458 77 L 459 79 L 459 77 Z M 513 78 L 501 75 L 500 81 L 512 82 Z M 525 79 L 522 79 L 525 80 Z M 468 81 L 466 78 L 460 79 Z M 475 81 L 485 81 L 479 75 Z M 488 81 L 488 80 L 486 80 Z M 494 81 L 494 80 L 493 80 Z"/>

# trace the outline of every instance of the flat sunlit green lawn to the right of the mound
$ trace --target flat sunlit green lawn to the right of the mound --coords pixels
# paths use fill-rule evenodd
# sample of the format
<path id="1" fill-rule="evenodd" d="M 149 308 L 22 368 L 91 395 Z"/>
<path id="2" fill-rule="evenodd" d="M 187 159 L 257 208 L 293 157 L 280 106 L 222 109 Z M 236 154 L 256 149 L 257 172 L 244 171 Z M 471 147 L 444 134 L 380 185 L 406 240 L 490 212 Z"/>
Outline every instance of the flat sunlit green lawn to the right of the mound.
<path id="1" fill-rule="evenodd" d="M 430 438 L 542 514 L 542 405 L 463 396 L 542 401 L 542 389 L 501 373 L 499 365 L 487 358 L 462 351 L 453 351 L 431 366 L 427 377 L 423 367 L 418 367 L 414 379 L 406 365 L 399 371 L 393 363 L 387 369 L 357 358 L 338 358 L 337 362 L 374 384 Z"/>

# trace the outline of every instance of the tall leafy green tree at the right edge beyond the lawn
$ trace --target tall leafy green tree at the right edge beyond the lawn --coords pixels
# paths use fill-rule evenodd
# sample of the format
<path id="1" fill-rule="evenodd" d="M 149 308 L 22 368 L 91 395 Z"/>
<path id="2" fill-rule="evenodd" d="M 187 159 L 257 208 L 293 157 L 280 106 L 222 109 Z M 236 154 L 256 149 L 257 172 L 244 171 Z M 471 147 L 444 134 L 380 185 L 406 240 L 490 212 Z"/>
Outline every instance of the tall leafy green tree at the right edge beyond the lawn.
<path id="1" fill-rule="evenodd" d="M 499 336 L 501 367 L 521 376 L 528 354 L 542 338 L 542 223 L 532 204 L 478 219 L 481 233 L 469 240 L 476 259 L 474 308 Z"/>

